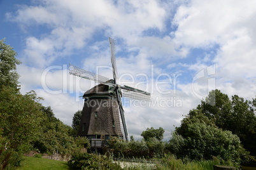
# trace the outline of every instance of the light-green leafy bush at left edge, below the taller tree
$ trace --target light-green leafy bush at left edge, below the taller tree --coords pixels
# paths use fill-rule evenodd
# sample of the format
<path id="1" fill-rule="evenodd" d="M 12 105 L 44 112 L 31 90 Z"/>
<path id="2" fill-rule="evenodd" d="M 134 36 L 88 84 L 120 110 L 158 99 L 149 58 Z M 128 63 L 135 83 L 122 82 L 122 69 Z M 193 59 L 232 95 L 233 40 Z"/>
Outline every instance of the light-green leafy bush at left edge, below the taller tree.
<path id="1" fill-rule="evenodd" d="M 25 149 L 24 146 L 36 138 L 42 118 L 39 100 L 34 91 L 26 95 L 16 94 L 15 89 L 7 87 L 0 91 L 0 128 L 3 136 L 10 140 L 8 147 Z"/>

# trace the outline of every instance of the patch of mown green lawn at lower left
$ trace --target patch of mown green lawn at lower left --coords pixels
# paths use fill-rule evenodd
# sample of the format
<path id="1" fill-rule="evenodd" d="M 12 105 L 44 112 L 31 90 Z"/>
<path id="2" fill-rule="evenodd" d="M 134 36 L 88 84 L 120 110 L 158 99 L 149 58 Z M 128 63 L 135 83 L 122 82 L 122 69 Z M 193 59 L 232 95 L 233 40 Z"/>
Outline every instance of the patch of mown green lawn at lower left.
<path id="1" fill-rule="evenodd" d="M 52 159 L 44 159 L 44 158 L 36 158 L 36 157 L 23 157 L 24 160 L 21 162 L 21 166 L 18 167 L 18 170 L 62 170 L 69 169 L 68 163 L 60 160 L 52 160 Z"/>

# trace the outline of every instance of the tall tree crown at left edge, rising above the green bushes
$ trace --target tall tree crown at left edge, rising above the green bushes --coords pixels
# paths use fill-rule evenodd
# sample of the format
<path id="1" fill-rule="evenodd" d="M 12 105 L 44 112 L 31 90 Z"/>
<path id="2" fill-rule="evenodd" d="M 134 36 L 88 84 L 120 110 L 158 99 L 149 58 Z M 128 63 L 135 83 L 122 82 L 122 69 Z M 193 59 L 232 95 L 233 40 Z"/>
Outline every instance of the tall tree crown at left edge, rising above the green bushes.
<path id="1" fill-rule="evenodd" d="M 0 40 L 0 89 L 3 86 L 17 88 L 18 73 L 16 65 L 20 64 L 15 56 L 17 53 L 10 45 L 4 43 L 4 39 Z"/>

